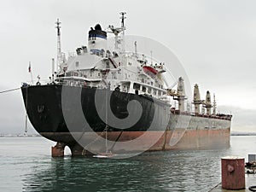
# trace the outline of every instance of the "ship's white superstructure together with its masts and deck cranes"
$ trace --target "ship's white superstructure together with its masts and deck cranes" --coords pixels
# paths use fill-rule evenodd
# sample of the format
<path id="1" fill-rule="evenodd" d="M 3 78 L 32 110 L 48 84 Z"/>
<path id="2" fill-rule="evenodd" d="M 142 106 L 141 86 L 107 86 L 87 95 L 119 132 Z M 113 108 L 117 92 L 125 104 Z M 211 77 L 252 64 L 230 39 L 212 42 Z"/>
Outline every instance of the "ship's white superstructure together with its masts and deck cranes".
<path id="1" fill-rule="evenodd" d="M 166 72 L 165 64 L 154 59 L 152 51 L 151 55 L 138 53 L 137 41 L 134 42 L 134 52 L 125 51 L 125 12 L 120 14 L 120 27 L 108 26 L 107 32 L 103 31 L 99 24 L 94 28 L 90 27 L 88 44 L 76 49 L 75 53 L 69 54 L 67 60 L 61 53 L 61 22 L 57 20 L 58 68 L 60 70 L 52 79 L 55 79 L 56 84 L 153 96 L 168 104 L 173 104 L 176 100 L 179 113 L 190 113 L 190 103 L 185 103 L 187 96 L 182 77 L 176 82 L 177 89 L 170 89 L 166 84 L 168 79 L 163 75 Z M 108 42 L 108 34 L 113 36 L 113 42 Z M 113 44 L 113 49 L 108 48 L 109 43 Z M 195 84 L 193 104 L 196 115 L 204 114 L 205 109 L 207 114 L 211 115 L 212 107 L 213 115 L 216 114 L 216 103 L 212 105 L 210 93 L 207 92 L 206 101 L 201 100 L 197 84 Z M 174 108 L 175 106 L 176 104 Z"/>

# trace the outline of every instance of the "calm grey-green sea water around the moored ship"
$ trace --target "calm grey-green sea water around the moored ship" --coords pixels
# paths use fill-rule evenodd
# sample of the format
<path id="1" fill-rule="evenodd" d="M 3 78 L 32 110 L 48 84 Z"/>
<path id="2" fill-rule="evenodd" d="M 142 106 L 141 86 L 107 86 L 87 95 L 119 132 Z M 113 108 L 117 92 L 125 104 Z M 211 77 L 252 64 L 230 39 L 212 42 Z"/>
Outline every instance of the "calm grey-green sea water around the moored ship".
<path id="1" fill-rule="evenodd" d="M 53 159 L 42 137 L 0 137 L 0 191 L 208 191 L 220 159 L 256 153 L 256 137 L 231 137 L 221 150 L 145 153 L 125 159 Z M 68 151 L 67 151 L 68 153 Z"/>

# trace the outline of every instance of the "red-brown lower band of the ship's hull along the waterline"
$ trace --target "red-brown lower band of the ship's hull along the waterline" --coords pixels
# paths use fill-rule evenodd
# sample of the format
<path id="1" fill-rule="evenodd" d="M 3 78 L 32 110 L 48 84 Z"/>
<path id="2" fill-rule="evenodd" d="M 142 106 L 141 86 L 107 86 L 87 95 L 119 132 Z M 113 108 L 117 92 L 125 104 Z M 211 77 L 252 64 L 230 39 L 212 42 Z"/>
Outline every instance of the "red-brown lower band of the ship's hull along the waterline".
<path id="1" fill-rule="evenodd" d="M 90 154 L 96 154 L 106 150 L 105 133 L 42 133 L 44 137 L 60 142 L 63 138 L 64 145 L 71 148 L 73 155 L 83 155 L 84 148 Z M 82 136 L 82 137 L 81 137 Z M 75 140 L 74 138 L 79 138 Z M 101 139 L 99 139 L 101 138 Z M 137 143 L 136 141 L 140 138 Z M 230 129 L 224 130 L 184 130 L 175 131 L 114 131 L 108 132 L 108 148 L 114 153 L 125 153 L 132 151 L 160 151 L 160 150 L 183 150 L 183 149 L 207 149 L 207 148 L 229 148 Z M 65 141 L 65 142 L 64 142 Z M 67 142 L 68 141 L 68 142 Z M 83 143 L 86 141 L 86 143 Z M 113 141 L 111 143 L 111 141 Z M 127 145 L 127 142 L 131 145 Z M 128 146 L 128 147 L 127 147 Z M 87 153 L 87 154 L 88 154 Z"/>

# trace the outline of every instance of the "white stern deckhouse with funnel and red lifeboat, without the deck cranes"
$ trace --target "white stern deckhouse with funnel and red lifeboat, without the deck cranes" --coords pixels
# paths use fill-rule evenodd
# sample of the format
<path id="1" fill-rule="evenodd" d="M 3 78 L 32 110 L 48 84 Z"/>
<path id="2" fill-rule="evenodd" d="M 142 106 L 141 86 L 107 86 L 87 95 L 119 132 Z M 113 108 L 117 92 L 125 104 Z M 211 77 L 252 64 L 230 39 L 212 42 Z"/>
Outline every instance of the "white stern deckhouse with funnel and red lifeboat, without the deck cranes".
<path id="1" fill-rule="evenodd" d="M 87 46 L 76 49 L 67 61 L 62 60 L 56 82 L 148 94 L 155 98 L 166 96 L 164 64 L 137 51 L 124 50 L 125 13 L 121 15 L 120 27 L 108 26 L 108 32 L 114 36 L 114 49 L 107 48 L 107 32 L 102 31 L 99 24 L 90 27 Z"/>

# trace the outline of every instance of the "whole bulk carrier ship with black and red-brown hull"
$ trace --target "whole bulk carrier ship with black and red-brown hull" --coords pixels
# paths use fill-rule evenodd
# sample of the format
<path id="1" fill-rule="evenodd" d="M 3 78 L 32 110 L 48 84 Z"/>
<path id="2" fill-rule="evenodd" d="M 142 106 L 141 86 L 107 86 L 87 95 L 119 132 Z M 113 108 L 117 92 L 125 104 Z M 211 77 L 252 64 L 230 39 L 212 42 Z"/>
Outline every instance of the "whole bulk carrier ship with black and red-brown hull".
<path id="1" fill-rule="evenodd" d="M 100 154 L 106 148 L 121 154 L 229 147 L 232 116 L 216 113 L 215 96 L 211 102 L 207 91 L 206 100 L 201 100 L 195 84 L 194 110 L 186 108 L 183 78 L 171 89 L 163 62 L 138 53 L 137 42 L 134 51 L 125 51 L 124 12 L 120 19 L 120 27 L 108 26 L 112 50 L 107 46 L 108 33 L 97 24 L 90 28 L 87 46 L 68 59 L 61 53 L 57 20 L 58 72 L 53 60 L 48 83 L 38 79 L 37 84 L 22 85 L 32 126 L 56 142 L 52 155 L 64 155 L 66 146 L 73 156 Z"/>

